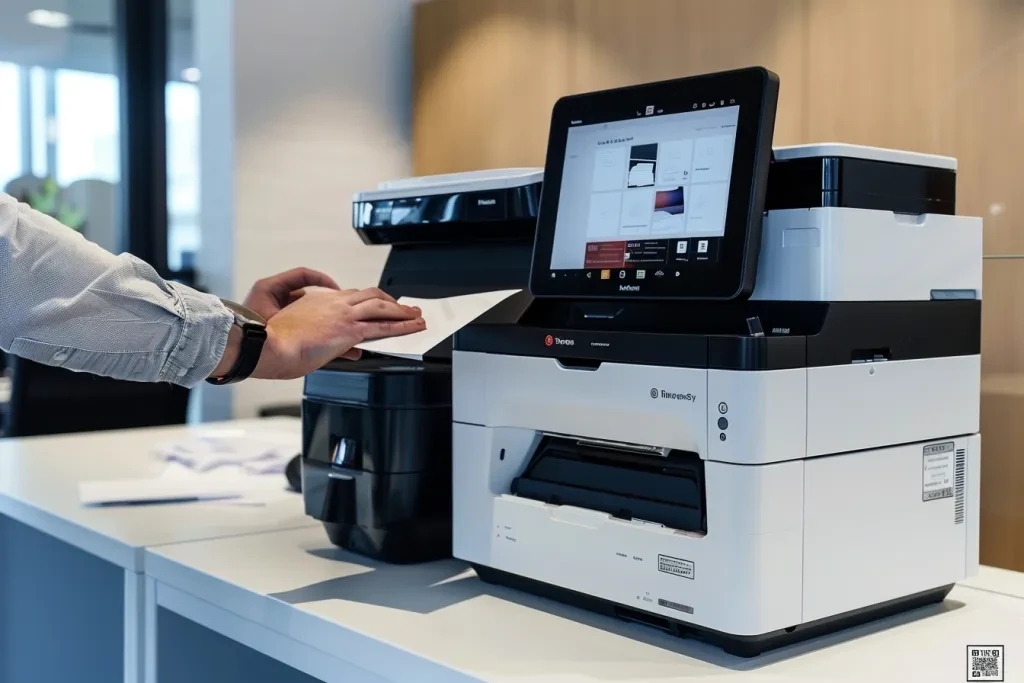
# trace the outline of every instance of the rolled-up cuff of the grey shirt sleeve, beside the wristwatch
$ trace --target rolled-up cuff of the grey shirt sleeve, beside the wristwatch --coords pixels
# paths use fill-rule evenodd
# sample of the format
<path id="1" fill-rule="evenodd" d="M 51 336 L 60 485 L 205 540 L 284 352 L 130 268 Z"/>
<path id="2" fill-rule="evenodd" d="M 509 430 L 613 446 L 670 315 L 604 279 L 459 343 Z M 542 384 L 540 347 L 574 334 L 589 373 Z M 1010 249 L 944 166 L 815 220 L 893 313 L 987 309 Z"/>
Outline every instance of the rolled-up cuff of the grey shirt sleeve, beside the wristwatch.
<path id="1" fill-rule="evenodd" d="M 234 315 L 213 295 L 177 283 L 168 285 L 177 297 L 182 327 L 160 373 L 160 381 L 194 387 L 220 364 Z"/>

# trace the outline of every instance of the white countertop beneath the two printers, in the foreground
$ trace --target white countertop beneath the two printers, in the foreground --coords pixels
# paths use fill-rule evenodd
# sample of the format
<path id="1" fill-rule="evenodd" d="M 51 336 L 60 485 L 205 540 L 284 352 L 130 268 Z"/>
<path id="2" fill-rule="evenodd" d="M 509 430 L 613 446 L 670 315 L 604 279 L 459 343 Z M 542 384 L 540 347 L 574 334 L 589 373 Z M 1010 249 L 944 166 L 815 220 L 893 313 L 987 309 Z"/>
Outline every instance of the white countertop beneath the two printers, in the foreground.
<path id="1" fill-rule="evenodd" d="M 979 644 L 1005 645 L 1006 680 L 1024 681 L 1024 599 L 998 590 L 1024 580 L 998 570 L 943 605 L 755 659 L 490 587 L 454 560 L 379 565 L 321 528 L 152 549 L 146 572 L 164 606 L 211 628 L 234 620 L 245 626 L 225 635 L 243 642 L 258 627 L 262 651 L 329 681 L 343 678 L 340 661 L 395 682 L 958 682 L 967 646 Z"/>

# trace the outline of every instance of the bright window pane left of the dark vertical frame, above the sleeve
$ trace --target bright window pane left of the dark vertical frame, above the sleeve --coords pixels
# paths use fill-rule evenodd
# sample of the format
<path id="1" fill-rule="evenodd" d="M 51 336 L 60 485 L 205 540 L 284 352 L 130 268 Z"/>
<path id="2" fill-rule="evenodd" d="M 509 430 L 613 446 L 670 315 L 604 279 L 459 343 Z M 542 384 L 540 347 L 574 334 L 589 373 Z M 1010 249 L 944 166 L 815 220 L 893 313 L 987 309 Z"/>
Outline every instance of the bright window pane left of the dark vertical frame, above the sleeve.
<path id="1" fill-rule="evenodd" d="M 115 0 L 52 4 L 4 3 L 0 190 L 121 251 Z"/>

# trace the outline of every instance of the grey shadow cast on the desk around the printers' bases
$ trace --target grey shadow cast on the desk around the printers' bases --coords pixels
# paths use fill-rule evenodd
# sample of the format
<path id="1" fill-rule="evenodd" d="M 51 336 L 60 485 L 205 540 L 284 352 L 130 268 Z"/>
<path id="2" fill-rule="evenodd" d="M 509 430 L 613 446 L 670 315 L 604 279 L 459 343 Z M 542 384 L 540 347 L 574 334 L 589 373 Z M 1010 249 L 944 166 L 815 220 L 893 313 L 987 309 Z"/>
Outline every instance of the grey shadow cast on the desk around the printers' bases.
<path id="1" fill-rule="evenodd" d="M 308 552 L 323 559 L 355 565 L 358 569 L 346 577 L 275 593 L 271 597 L 289 604 L 345 600 L 427 614 L 481 596 L 488 596 L 733 671 L 761 669 L 964 607 L 962 602 L 946 599 L 941 603 L 911 609 L 771 650 L 757 657 L 742 658 L 727 654 L 716 646 L 697 640 L 677 638 L 652 627 L 618 621 L 529 593 L 486 584 L 477 579 L 464 563 L 457 560 L 419 565 L 393 565 L 375 562 L 337 548 Z"/>

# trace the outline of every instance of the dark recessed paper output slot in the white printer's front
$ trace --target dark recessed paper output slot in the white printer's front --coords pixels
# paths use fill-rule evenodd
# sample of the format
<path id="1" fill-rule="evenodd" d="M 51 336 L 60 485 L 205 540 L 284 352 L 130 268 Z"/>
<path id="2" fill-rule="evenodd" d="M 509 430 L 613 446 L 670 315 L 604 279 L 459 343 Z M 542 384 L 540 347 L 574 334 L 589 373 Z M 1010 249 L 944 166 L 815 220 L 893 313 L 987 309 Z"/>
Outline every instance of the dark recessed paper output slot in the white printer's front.
<path id="1" fill-rule="evenodd" d="M 544 436 L 512 493 L 551 505 L 597 510 L 706 533 L 703 461 L 694 454 L 645 454 Z"/>

